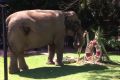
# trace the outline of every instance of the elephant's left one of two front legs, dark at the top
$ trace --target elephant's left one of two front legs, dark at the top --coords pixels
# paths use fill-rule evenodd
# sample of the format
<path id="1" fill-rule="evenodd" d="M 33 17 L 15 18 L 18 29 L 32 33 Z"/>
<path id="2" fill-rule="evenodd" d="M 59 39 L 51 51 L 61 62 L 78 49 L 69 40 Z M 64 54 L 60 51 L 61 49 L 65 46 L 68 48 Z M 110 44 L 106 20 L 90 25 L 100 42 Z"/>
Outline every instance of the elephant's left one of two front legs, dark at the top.
<path id="1" fill-rule="evenodd" d="M 55 64 L 53 59 L 54 59 L 54 55 L 55 55 L 55 45 L 54 44 L 49 44 L 48 45 L 48 62 L 47 64 Z"/>

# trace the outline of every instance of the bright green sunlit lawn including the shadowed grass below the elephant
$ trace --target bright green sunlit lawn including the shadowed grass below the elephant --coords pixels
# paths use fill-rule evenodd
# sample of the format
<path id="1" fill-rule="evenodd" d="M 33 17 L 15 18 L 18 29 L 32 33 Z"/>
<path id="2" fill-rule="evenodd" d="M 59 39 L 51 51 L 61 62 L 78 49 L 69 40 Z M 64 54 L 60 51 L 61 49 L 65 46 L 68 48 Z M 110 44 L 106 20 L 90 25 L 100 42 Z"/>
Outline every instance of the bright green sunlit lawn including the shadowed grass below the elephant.
<path id="1" fill-rule="evenodd" d="M 67 53 L 64 56 L 77 55 Z M 111 55 L 110 58 L 120 64 L 120 56 Z M 9 80 L 120 80 L 120 65 L 118 64 L 100 66 L 74 63 L 56 67 L 46 64 L 46 55 L 29 56 L 26 57 L 26 61 L 30 70 L 8 74 Z M 0 57 L 0 80 L 4 80 L 3 69 L 3 58 Z"/>

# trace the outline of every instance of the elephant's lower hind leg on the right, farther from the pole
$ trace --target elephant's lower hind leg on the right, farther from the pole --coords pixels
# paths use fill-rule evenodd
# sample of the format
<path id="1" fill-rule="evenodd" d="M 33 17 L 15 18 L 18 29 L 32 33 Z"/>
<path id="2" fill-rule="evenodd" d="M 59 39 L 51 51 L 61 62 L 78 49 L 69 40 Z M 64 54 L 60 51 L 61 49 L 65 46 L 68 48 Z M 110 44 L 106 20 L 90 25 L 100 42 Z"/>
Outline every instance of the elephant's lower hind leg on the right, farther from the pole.
<path id="1" fill-rule="evenodd" d="M 25 62 L 23 52 L 20 53 L 21 55 L 18 56 L 19 68 L 22 70 L 27 70 L 28 66 Z"/>

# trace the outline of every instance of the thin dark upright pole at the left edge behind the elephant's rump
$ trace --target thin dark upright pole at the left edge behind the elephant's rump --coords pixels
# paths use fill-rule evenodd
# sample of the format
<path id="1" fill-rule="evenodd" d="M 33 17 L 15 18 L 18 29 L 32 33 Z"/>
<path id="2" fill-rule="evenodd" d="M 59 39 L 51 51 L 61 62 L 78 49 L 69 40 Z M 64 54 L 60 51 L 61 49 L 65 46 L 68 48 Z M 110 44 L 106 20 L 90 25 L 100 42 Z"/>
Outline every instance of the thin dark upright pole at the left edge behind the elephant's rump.
<path id="1" fill-rule="evenodd" d="M 5 7 L 6 5 L 0 5 L 2 9 L 2 27 L 3 27 L 3 50 L 4 50 L 4 80 L 8 80 L 7 70 L 7 29 L 5 25 Z"/>

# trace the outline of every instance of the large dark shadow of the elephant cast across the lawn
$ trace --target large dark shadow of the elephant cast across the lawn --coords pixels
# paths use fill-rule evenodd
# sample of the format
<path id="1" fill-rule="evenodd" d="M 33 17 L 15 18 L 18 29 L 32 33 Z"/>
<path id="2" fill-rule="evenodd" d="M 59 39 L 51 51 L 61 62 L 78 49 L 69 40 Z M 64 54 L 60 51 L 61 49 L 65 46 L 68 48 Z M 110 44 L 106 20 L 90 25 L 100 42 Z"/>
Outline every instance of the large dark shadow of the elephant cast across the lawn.
<path id="1" fill-rule="evenodd" d="M 65 65 L 64 67 L 41 67 L 41 68 L 30 69 L 27 71 L 21 71 L 18 75 L 22 77 L 28 77 L 34 79 L 48 79 L 48 78 L 62 77 L 75 73 L 81 73 L 81 72 L 87 72 L 93 70 L 104 70 L 104 69 L 107 69 L 107 67 L 100 65 L 90 65 L 90 64 L 86 64 L 83 66 Z"/>

